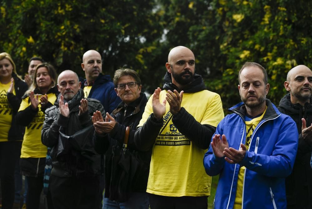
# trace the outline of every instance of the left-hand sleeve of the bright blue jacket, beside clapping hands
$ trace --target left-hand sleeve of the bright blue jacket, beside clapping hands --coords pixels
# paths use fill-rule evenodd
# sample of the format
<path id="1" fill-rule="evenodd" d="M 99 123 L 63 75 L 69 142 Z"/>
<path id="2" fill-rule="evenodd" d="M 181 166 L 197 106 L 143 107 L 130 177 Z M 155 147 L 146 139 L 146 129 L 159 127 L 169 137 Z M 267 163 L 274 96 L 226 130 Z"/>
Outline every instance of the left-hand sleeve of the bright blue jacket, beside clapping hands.
<path id="1" fill-rule="evenodd" d="M 220 134 L 220 135 L 223 134 L 223 126 L 222 126 L 223 120 L 221 120 L 221 122 L 217 126 L 215 134 Z M 213 134 L 212 137 L 215 134 Z M 225 164 L 224 157 L 221 157 L 221 158 L 216 157 L 216 155 L 213 154 L 211 146 L 206 152 L 203 162 L 204 162 L 205 171 L 209 176 L 217 176 L 222 171 L 223 166 Z"/>

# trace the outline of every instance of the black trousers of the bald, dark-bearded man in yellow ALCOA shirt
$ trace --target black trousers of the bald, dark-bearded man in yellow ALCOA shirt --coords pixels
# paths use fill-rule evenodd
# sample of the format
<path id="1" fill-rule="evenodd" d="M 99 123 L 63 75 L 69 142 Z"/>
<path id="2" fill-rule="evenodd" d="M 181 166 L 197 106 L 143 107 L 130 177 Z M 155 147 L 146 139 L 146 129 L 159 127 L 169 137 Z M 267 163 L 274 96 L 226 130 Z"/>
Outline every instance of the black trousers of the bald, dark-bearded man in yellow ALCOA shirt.
<path id="1" fill-rule="evenodd" d="M 149 206 L 151 209 L 207 209 L 208 196 L 168 197 L 149 194 Z"/>

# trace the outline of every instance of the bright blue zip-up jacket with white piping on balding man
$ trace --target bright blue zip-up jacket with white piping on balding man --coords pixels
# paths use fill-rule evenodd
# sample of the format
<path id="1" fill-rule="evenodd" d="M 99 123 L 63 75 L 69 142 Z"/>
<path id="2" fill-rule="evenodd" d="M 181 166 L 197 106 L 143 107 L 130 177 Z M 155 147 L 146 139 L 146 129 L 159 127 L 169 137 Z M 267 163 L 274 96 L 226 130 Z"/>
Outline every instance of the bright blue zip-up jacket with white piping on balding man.
<path id="1" fill-rule="evenodd" d="M 245 166 L 242 208 L 286 208 L 285 177 L 290 175 L 298 147 L 298 130 L 288 115 L 281 114 L 269 99 L 267 110 L 251 136 L 249 149 L 239 164 L 230 164 L 224 157 L 217 158 L 210 146 L 204 157 L 208 175 L 219 176 L 215 208 L 233 208 L 238 171 Z M 243 102 L 229 109 L 217 126 L 216 134 L 227 137 L 229 147 L 238 150 L 245 144 L 246 125 Z"/>

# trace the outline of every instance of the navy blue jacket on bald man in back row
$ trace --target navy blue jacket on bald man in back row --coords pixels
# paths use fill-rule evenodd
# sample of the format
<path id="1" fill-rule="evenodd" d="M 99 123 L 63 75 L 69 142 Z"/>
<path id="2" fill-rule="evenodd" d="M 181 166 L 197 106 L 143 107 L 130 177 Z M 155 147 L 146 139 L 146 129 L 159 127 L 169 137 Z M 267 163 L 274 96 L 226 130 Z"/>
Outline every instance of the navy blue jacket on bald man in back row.
<path id="1" fill-rule="evenodd" d="M 85 83 L 86 79 L 82 84 Z M 99 74 L 99 76 L 95 79 L 88 98 L 99 100 L 103 105 L 104 110 L 108 113 L 113 112 L 113 110 L 115 110 L 121 102 L 121 99 L 115 92 L 115 86 L 110 79 L 110 75 L 103 74 Z"/>

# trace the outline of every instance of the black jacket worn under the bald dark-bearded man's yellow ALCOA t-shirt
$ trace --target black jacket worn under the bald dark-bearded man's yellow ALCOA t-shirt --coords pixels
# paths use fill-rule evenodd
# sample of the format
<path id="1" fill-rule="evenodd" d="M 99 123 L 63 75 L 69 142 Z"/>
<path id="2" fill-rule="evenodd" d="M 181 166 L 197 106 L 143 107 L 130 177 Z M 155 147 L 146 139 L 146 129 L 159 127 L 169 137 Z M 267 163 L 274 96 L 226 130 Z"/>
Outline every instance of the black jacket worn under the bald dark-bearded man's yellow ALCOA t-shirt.
<path id="1" fill-rule="evenodd" d="M 185 93 L 195 93 L 206 90 L 202 76 L 198 74 L 194 74 L 193 81 L 186 84 L 181 89 L 178 89 L 178 87 L 172 83 L 171 74 L 168 72 L 164 76 L 164 81 L 165 84 L 163 85 L 163 89 L 165 90 L 173 91 L 176 89 L 179 93 L 181 91 L 184 91 Z M 200 124 L 183 107 L 181 107 L 178 114 L 173 115 L 172 122 L 183 135 L 201 149 L 207 149 L 209 147 L 210 140 L 207 139 L 211 139 L 216 131 L 216 127 L 214 126 Z M 144 151 L 153 147 L 162 125 L 163 119 L 156 120 L 152 113 L 144 125 L 139 127 L 135 133 L 134 139 L 136 146 Z"/>

